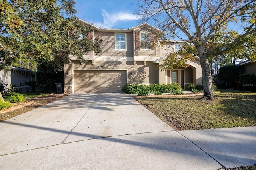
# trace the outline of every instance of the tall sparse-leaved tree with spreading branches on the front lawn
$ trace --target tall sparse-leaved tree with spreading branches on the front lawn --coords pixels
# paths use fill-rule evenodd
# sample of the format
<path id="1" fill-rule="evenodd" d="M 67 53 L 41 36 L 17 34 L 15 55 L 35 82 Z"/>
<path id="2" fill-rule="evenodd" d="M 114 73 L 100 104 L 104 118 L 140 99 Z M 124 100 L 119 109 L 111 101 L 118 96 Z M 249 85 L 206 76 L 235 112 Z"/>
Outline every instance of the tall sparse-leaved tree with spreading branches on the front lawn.
<path id="1" fill-rule="evenodd" d="M 227 47 L 242 44 L 244 37 L 255 34 L 255 7 L 255 0 L 138 0 L 137 14 L 142 20 L 155 22 L 166 33 L 194 46 L 194 50 L 185 51 L 200 58 L 204 97 L 212 99 L 211 68 L 206 54 L 210 51 L 210 38 L 226 30 L 230 22 L 240 21 L 248 24 L 245 32 Z M 225 50 L 229 49 L 222 49 Z M 187 55 L 185 57 L 188 59 Z"/>

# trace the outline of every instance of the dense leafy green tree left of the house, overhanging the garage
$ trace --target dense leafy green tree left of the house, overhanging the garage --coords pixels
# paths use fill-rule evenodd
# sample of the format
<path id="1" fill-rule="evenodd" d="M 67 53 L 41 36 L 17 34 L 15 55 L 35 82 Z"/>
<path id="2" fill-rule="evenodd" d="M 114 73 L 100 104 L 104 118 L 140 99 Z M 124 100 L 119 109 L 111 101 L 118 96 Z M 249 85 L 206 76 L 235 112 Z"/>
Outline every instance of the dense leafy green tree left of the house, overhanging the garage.
<path id="1" fill-rule="evenodd" d="M 63 71 L 68 55 L 81 63 L 88 51 L 101 52 L 100 40 L 90 38 L 92 28 L 74 15 L 75 0 L 0 0 L 2 69 L 10 65 L 43 63 Z M 16 63 L 15 63 L 16 62 Z M 31 64 L 32 63 L 32 64 Z"/>

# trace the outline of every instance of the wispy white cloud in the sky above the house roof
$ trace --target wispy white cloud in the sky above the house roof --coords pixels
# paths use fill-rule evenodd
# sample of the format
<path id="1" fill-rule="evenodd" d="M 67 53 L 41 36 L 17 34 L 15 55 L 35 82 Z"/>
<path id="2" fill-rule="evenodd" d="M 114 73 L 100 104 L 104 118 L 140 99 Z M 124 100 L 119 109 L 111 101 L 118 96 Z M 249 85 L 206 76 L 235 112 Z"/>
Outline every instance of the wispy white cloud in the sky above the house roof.
<path id="1" fill-rule="evenodd" d="M 125 22 L 129 20 L 138 20 L 138 17 L 128 12 L 112 12 L 108 14 L 106 10 L 102 10 L 103 21 L 94 23 L 96 26 L 104 28 L 112 28 L 118 22 Z"/>

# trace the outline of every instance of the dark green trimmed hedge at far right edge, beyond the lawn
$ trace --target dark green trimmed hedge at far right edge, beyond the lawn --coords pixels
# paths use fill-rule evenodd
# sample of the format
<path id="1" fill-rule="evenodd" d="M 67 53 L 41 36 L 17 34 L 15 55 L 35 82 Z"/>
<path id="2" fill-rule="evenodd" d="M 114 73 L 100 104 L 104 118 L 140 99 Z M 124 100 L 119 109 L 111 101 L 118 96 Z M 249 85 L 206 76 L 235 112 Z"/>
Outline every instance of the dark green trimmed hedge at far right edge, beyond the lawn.
<path id="1" fill-rule="evenodd" d="M 256 91 L 256 73 L 245 73 L 239 76 L 240 87 L 245 91 Z"/>

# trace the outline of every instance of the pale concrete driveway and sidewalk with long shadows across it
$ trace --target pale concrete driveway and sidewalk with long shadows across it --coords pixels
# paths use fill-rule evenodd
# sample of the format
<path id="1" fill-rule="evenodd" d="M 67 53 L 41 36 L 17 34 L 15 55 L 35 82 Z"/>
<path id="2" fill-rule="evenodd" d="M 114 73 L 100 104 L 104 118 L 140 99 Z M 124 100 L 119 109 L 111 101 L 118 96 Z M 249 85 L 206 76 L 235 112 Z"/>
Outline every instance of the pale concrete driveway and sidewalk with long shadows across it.
<path id="1" fill-rule="evenodd" d="M 176 132 L 123 93 L 72 94 L 0 123 L 0 169 L 256 164 L 256 127 Z"/>

